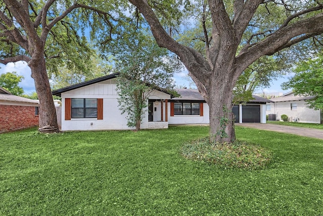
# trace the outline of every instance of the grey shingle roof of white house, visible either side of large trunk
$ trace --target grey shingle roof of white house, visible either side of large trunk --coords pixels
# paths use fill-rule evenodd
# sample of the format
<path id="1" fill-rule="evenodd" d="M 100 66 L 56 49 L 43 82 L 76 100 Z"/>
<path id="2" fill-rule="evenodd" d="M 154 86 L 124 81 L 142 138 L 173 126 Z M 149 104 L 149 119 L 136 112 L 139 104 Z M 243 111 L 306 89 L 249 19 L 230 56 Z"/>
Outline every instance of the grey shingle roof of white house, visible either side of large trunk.
<path id="1" fill-rule="evenodd" d="M 199 91 L 197 89 L 176 89 L 175 90 L 178 94 L 180 94 L 180 97 L 172 98 L 171 100 L 175 101 L 203 101 L 205 102 L 204 98 L 201 96 Z M 261 98 L 255 95 L 252 95 L 253 100 L 248 101 L 248 103 L 268 103 L 273 102 L 271 100 Z"/>

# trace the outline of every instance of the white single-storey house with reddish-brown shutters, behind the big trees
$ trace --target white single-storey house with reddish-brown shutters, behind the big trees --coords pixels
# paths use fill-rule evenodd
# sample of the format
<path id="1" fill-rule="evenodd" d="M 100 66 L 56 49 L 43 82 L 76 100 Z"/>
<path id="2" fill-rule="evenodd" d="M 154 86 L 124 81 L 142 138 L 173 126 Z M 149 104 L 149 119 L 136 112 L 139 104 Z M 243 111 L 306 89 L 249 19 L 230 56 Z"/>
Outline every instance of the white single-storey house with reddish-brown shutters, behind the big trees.
<path id="1" fill-rule="evenodd" d="M 116 78 L 118 73 L 53 91 L 62 97 L 62 131 L 134 129 L 127 126 L 125 114 L 118 107 Z M 154 90 L 148 99 L 141 128 L 168 128 L 169 124 L 209 123 L 208 105 L 197 90 L 177 90 L 179 98 Z M 265 123 L 265 104 L 269 100 L 255 97 L 246 105 L 235 105 L 237 122 Z"/>

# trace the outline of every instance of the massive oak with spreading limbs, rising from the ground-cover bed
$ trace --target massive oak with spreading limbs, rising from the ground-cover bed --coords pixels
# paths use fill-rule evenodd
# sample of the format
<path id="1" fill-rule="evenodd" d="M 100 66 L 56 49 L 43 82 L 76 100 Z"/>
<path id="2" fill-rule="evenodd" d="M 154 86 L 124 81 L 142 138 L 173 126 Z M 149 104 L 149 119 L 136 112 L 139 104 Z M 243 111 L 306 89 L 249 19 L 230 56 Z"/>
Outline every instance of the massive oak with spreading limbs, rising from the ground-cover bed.
<path id="1" fill-rule="evenodd" d="M 218 142 L 235 140 L 232 93 L 243 71 L 262 56 L 323 32 L 320 1 L 208 0 L 203 6 L 211 20 L 210 29 L 205 25 L 201 32 L 206 54 L 202 55 L 176 41 L 158 19 L 160 7 L 175 1 L 129 2 L 149 23 L 157 44 L 177 54 L 188 69 L 209 106 L 210 139 Z"/>

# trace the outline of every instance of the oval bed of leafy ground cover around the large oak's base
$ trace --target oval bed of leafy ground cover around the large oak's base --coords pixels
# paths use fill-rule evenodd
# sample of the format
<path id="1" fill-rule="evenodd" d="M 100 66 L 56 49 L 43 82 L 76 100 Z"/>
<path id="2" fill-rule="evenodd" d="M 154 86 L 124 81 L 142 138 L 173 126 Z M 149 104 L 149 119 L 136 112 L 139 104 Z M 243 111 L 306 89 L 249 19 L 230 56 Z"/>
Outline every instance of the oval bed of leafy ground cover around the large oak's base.
<path id="1" fill-rule="evenodd" d="M 242 141 L 209 143 L 208 138 L 185 143 L 181 154 L 188 159 L 203 160 L 223 168 L 259 169 L 272 158 L 271 152 Z"/>

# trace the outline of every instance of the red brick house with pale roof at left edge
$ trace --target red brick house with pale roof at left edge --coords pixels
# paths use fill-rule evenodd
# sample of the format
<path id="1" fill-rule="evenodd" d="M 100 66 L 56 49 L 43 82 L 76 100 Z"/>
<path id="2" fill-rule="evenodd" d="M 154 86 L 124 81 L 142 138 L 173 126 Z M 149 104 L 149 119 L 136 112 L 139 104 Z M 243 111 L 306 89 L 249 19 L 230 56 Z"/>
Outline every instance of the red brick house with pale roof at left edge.
<path id="1" fill-rule="evenodd" d="M 37 126 L 38 101 L 12 95 L 0 87 L 0 133 Z"/>

